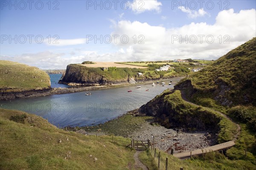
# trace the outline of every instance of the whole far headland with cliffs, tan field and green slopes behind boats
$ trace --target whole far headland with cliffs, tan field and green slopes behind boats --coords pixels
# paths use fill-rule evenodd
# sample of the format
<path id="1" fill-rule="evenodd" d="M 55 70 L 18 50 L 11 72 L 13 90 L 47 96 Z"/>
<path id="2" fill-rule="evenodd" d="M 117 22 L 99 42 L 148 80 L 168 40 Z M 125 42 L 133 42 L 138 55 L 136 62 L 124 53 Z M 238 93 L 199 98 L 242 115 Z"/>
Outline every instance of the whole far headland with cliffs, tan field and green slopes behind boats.
<path id="1" fill-rule="evenodd" d="M 120 66 L 104 67 L 104 65 L 102 67 L 96 67 L 94 64 L 70 64 L 67 66 L 65 76 L 60 82 L 69 85 L 111 85 L 127 82 L 134 83 L 135 81 L 143 82 L 148 80 L 187 76 L 190 73 L 190 70 L 200 67 L 193 63 L 178 63 L 170 65 L 170 63 L 166 62 L 157 62 L 153 64 L 147 63 L 146 67 L 132 64 L 125 65 L 123 63 L 112 63 L 112 65 L 113 64 L 122 64 L 123 68 Z M 156 69 L 159 69 L 163 65 L 169 65 L 170 68 L 167 71 L 156 71 Z M 143 76 L 138 75 L 138 73 L 142 73 Z"/>

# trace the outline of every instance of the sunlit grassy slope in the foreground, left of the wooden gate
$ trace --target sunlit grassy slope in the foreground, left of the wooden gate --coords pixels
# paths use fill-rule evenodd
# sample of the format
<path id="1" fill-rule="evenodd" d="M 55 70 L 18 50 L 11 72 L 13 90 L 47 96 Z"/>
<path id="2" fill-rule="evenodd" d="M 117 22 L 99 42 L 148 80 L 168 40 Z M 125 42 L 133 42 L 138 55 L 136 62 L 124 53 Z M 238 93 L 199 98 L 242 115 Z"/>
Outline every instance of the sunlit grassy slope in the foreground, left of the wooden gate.
<path id="1" fill-rule="evenodd" d="M 112 136 L 67 132 L 20 111 L 1 110 L 0 139 L 1 170 L 125 170 L 134 166 L 134 151 L 125 148 L 128 139 L 114 136 L 116 144 Z"/>

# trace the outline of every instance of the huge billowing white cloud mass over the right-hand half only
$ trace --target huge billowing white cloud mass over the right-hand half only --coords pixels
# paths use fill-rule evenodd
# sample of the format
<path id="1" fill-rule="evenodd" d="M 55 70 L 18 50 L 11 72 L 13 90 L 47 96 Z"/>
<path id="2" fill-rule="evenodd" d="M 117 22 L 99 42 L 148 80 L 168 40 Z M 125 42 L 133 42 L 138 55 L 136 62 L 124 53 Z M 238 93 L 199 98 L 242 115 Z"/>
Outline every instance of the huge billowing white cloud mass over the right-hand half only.
<path id="1" fill-rule="evenodd" d="M 125 49 L 131 51 L 129 55 L 125 53 L 130 61 L 190 57 L 217 59 L 238 45 L 256 37 L 255 9 L 242 10 L 239 13 L 234 13 L 233 9 L 221 11 L 215 20 L 213 25 L 190 23 L 169 29 L 139 21 L 122 20 L 113 26 L 114 31 L 111 34 L 129 37 L 129 42 L 126 44 L 118 39 L 116 46 L 124 51 Z M 134 43 L 134 35 L 137 37 L 136 43 Z M 138 43 L 141 40 L 139 35 L 145 37 L 144 44 Z M 212 43 L 211 37 L 214 38 Z M 185 38 L 187 43 L 181 38 Z M 197 40 L 195 41 L 194 38 Z M 129 58 L 131 56 L 133 59 Z"/>

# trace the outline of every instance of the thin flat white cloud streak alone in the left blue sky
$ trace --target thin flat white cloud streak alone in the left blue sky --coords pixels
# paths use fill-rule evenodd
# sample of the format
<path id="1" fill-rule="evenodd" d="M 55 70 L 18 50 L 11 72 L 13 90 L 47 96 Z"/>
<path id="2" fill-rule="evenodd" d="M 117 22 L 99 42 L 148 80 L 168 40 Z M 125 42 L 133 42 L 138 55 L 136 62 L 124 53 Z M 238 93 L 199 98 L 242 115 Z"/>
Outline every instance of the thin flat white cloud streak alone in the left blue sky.
<path id="1" fill-rule="evenodd" d="M 78 39 L 56 39 L 51 38 L 51 43 L 49 41 L 45 42 L 47 45 L 52 46 L 67 46 L 67 45 L 79 45 L 86 43 L 86 38 L 78 38 Z"/>

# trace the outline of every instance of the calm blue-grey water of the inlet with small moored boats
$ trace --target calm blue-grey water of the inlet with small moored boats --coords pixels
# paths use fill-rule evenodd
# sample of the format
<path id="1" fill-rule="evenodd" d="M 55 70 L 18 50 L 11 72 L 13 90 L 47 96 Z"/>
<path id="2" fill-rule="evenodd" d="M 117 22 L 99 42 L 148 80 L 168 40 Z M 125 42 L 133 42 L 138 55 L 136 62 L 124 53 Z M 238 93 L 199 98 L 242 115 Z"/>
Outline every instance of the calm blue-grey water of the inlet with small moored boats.
<path id="1" fill-rule="evenodd" d="M 166 82 L 165 86 L 158 80 L 160 83 L 154 82 L 155 86 L 152 86 L 152 82 L 146 82 L 99 91 L 12 99 L 0 101 L 0 105 L 1 108 L 34 113 L 59 127 L 93 126 L 140 108 L 167 88 L 173 88 L 179 80 L 180 78 L 172 78 L 172 85 L 169 85 L 170 79 L 163 80 Z M 55 85 L 58 87 L 58 84 Z M 141 88 L 136 88 L 137 86 Z M 85 95 L 86 93 L 91 95 Z"/>

